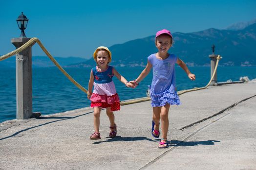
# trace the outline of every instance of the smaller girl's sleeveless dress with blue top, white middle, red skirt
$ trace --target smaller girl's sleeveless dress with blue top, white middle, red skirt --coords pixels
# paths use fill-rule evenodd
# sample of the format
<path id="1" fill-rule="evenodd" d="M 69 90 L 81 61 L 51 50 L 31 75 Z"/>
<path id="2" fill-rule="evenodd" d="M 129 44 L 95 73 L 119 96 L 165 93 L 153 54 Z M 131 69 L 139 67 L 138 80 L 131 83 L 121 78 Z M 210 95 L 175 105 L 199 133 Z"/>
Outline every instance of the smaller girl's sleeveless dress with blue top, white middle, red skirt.
<path id="1" fill-rule="evenodd" d="M 108 66 L 105 71 L 97 71 L 97 66 L 92 68 L 94 82 L 91 95 L 91 107 L 108 108 L 110 111 L 120 110 L 120 99 L 116 93 L 115 84 L 112 80 L 113 67 Z"/>

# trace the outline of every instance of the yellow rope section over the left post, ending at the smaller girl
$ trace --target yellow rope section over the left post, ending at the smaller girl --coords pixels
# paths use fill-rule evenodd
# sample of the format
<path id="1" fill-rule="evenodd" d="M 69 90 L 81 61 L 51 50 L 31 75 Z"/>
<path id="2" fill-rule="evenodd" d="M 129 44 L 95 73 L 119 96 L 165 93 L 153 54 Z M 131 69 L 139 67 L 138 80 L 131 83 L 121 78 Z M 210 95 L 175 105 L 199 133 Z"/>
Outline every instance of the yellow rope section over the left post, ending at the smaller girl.
<path id="1" fill-rule="evenodd" d="M 50 58 L 50 60 L 57 66 L 57 68 L 59 68 L 61 70 L 61 72 L 74 84 L 76 85 L 80 90 L 84 91 L 85 93 L 87 93 L 87 90 L 80 85 L 79 83 L 77 83 L 60 65 L 59 63 L 52 57 L 52 55 L 46 50 L 46 48 L 43 46 L 42 42 L 34 37 L 31 38 L 28 42 L 26 42 L 25 44 L 23 44 L 21 47 L 19 47 L 18 49 L 11 51 L 3 56 L 0 56 L 0 61 L 7 59 L 23 50 L 25 50 L 27 47 L 29 47 L 30 45 L 34 45 L 34 43 L 37 42 L 38 45 L 41 47 L 41 49 L 44 51 L 44 53 Z"/>

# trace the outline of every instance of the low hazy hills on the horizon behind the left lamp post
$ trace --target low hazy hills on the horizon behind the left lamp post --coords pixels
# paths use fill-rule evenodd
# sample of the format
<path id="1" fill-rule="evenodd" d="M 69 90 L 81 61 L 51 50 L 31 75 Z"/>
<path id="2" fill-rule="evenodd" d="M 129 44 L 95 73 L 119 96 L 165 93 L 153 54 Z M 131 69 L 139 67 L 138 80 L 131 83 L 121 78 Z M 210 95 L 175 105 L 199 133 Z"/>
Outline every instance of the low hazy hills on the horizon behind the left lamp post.
<path id="1" fill-rule="evenodd" d="M 70 65 L 70 64 L 75 64 L 75 63 L 80 63 L 80 62 L 85 62 L 87 59 L 84 58 L 79 58 L 79 57 L 54 57 L 55 60 L 63 67 Z M 5 67 L 5 68 L 15 68 L 15 56 L 12 56 L 6 60 L 3 60 L 0 62 L 0 67 Z M 52 61 L 47 57 L 47 56 L 33 56 L 32 57 L 32 67 L 34 68 L 42 68 L 42 67 L 53 67 L 55 66 Z"/>

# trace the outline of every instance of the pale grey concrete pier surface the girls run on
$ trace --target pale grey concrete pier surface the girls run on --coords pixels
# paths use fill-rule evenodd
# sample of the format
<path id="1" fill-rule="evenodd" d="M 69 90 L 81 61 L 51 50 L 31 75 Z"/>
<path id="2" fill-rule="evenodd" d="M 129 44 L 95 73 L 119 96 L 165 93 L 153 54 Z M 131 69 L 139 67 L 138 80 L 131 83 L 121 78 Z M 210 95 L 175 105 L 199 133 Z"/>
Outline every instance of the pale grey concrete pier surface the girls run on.
<path id="1" fill-rule="evenodd" d="M 107 137 L 103 110 L 102 138 L 89 139 L 89 107 L 3 122 L 0 170 L 256 170 L 256 81 L 211 86 L 180 99 L 169 113 L 168 149 L 158 149 L 159 139 L 150 134 L 150 102 L 115 112 L 115 138 Z"/>

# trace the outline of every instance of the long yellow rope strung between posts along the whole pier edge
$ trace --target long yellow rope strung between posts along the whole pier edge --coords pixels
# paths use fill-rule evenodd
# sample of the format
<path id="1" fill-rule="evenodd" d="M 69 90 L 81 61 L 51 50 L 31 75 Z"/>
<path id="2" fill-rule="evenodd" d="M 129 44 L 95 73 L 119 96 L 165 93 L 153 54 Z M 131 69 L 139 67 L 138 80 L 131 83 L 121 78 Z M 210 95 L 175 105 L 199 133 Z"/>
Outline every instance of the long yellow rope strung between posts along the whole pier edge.
<path id="1" fill-rule="evenodd" d="M 27 47 L 29 46 L 33 46 L 35 43 L 38 43 L 38 45 L 41 47 L 41 49 L 44 51 L 44 53 L 50 58 L 50 60 L 57 66 L 57 68 L 59 68 L 62 73 L 74 84 L 76 85 L 80 90 L 84 91 L 85 93 L 87 93 L 87 90 L 82 86 L 80 85 L 79 83 L 77 83 L 60 65 L 59 63 L 52 57 L 52 55 L 46 50 L 46 48 L 43 46 L 43 44 L 41 43 L 41 41 L 34 37 L 34 38 L 31 38 L 28 42 L 26 42 L 25 44 L 23 44 L 20 48 L 14 50 L 14 51 L 11 51 L 5 55 L 2 55 L 0 56 L 0 61 L 4 60 L 4 59 L 7 59 L 21 51 L 23 51 L 24 49 L 26 49 Z M 211 82 L 213 81 L 213 77 L 216 73 L 216 70 L 217 70 L 217 67 L 218 67 L 218 63 L 219 63 L 219 60 L 221 59 L 220 55 L 217 56 L 217 62 L 216 62 L 216 66 L 214 68 L 214 71 L 213 71 L 213 76 L 211 78 L 211 80 L 209 81 L 209 83 L 204 86 L 204 87 L 198 87 L 198 88 L 192 88 L 192 89 L 188 89 L 188 90 L 181 90 L 181 91 L 178 91 L 177 94 L 178 95 L 181 95 L 181 94 L 184 94 L 184 93 L 187 93 L 187 92 L 191 92 L 191 91 L 196 91 L 196 90 L 201 90 L 201 89 L 205 89 L 207 88 Z M 121 105 L 126 105 L 126 104 L 132 104 L 132 103 L 137 103 L 137 102 L 145 102 L 145 101 L 149 101 L 150 100 L 150 97 L 144 97 L 144 98 L 139 98 L 139 99 L 135 99 L 135 100 L 130 100 L 130 101 L 126 101 L 126 102 L 120 102 Z"/>

